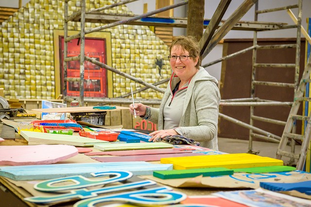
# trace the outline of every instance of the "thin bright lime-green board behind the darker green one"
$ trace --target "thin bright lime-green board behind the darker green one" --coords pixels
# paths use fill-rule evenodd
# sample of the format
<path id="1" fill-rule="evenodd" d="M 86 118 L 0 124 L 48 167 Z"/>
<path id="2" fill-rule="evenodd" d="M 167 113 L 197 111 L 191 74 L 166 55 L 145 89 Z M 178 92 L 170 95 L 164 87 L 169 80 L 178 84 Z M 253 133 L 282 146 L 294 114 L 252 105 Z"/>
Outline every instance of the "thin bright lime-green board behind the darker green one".
<path id="1" fill-rule="evenodd" d="M 277 173 L 277 172 L 289 172 L 296 170 L 292 166 L 264 166 L 264 167 L 250 167 L 250 168 L 238 168 L 233 169 L 234 173 Z"/>

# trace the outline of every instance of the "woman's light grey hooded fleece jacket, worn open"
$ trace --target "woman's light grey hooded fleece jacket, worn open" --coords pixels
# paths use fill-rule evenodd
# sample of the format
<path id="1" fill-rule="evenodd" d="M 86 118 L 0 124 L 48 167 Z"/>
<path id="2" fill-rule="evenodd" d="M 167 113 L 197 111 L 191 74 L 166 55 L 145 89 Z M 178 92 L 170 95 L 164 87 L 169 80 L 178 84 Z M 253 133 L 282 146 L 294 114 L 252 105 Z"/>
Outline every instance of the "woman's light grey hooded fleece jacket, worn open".
<path id="1" fill-rule="evenodd" d="M 172 74 L 172 77 L 174 75 Z M 158 130 L 163 129 L 163 108 L 170 96 L 172 82 L 178 82 L 175 79 L 179 78 L 171 78 L 160 108 L 150 107 L 150 114 L 146 114 L 144 117 L 153 123 L 157 123 Z M 179 127 L 174 128 L 180 135 L 200 142 L 200 146 L 214 150 L 218 150 L 217 126 L 220 92 L 217 83 L 218 81 L 214 77 L 210 76 L 203 67 L 200 67 L 190 80 Z"/>

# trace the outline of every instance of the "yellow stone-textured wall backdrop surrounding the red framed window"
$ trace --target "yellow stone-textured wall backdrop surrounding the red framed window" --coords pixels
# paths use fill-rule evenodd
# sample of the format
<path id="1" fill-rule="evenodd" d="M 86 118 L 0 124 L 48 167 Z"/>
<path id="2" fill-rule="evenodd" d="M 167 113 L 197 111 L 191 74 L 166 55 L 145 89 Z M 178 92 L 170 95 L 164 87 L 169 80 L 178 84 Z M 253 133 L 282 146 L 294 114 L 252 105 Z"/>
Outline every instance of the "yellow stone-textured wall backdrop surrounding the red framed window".
<path id="1" fill-rule="evenodd" d="M 86 11 L 113 3 L 113 0 L 86 0 Z M 5 98 L 56 98 L 54 61 L 59 60 L 54 60 L 53 30 L 64 30 L 64 4 L 64 0 L 31 0 L 2 23 L 0 88 L 4 88 Z M 79 0 L 69 1 L 69 15 L 80 10 L 79 6 Z M 105 12 L 132 14 L 126 5 Z M 101 25 L 86 23 L 86 28 Z M 68 29 L 79 31 L 80 22 L 69 22 Z M 111 32 L 114 68 L 149 83 L 171 76 L 169 48 L 147 26 L 120 25 L 104 31 Z M 130 92 L 130 82 L 113 73 L 113 89 L 108 90 L 113 91 L 114 97 L 121 96 Z M 134 81 L 132 86 L 133 90 L 144 87 Z M 164 83 L 158 87 L 166 86 Z M 148 89 L 135 96 L 161 98 L 162 94 Z"/>

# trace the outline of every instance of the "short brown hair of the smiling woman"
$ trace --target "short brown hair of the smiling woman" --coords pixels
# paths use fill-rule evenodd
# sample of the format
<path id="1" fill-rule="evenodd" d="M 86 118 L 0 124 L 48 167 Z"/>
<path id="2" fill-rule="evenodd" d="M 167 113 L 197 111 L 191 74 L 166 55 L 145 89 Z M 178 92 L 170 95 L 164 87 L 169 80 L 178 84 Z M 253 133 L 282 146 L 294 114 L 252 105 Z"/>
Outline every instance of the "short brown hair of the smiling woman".
<path id="1" fill-rule="evenodd" d="M 170 55 L 173 46 L 179 46 L 184 50 L 187 50 L 190 54 L 190 58 L 194 59 L 196 57 L 199 57 L 198 63 L 201 63 L 200 59 L 200 48 L 199 43 L 197 40 L 192 36 L 177 36 L 173 40 L 171 46 L 170 46 Z M 196 64 L 196 68 L 199 69 L 199 64 Z"/>

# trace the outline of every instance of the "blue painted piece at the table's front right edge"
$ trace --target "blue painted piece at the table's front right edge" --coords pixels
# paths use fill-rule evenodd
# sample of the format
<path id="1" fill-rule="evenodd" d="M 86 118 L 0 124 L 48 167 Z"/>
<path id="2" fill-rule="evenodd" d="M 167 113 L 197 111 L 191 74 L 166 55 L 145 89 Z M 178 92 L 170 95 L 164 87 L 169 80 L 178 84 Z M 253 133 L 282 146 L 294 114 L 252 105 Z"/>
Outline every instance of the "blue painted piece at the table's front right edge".
<path id="1" fill-rule="evenodd" d="M 260 182 L 260 187 L 270 191 L 298 191 L 311 195 L 311 180 L 296 183 Z"/>

